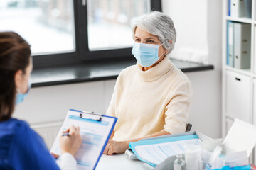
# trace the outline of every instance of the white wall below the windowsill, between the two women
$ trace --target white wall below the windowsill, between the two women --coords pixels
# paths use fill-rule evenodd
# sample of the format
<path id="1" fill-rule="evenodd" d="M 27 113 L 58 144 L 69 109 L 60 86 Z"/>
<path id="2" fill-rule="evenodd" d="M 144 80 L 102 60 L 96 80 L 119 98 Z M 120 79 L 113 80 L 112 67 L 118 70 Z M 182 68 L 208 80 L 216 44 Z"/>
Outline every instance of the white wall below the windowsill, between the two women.
<path id="1" fill-rule="evenodd" d="M 62 121 L 70 108 L 105 114 L 115 80 L 32 88 L 14 117 L 28 123 Z"/>

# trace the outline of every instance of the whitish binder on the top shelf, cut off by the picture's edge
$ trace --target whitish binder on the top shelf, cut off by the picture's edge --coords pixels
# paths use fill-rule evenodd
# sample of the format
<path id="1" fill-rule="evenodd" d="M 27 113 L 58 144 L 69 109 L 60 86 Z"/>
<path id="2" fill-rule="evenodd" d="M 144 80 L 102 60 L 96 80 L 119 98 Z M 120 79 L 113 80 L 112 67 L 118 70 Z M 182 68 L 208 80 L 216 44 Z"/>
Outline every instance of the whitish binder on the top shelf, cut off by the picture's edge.
<path id="1" fill-rule="evenodd" d="M 246 17 L 245 0 L 230 0 L 230 16 L 234 18 Z"/>

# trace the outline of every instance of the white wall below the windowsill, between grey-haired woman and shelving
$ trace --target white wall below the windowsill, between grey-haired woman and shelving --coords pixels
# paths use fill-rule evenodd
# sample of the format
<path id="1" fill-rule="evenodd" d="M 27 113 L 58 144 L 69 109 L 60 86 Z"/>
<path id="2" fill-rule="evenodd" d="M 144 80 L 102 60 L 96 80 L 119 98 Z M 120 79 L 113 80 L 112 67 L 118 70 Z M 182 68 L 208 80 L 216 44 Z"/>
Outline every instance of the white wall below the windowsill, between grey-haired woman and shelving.
<path id="1" fill-rule="evenodd" d="M 217 70 L 188 73 L 193 87 L 191 115 L 192 130 L 209 137 L 221 137 L 220 73 Z"/>

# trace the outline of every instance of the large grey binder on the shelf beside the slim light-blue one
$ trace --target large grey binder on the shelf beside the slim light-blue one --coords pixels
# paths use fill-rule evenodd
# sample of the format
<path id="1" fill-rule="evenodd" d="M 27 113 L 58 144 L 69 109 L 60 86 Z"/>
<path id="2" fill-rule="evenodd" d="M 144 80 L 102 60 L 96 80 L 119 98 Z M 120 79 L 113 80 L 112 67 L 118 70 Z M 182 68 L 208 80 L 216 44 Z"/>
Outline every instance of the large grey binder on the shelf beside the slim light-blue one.
<path id="1" fill-rule="evenodd" d="M 247 23 L 234 23 L 234 67 L 250 69 L 251 26 Z"/>

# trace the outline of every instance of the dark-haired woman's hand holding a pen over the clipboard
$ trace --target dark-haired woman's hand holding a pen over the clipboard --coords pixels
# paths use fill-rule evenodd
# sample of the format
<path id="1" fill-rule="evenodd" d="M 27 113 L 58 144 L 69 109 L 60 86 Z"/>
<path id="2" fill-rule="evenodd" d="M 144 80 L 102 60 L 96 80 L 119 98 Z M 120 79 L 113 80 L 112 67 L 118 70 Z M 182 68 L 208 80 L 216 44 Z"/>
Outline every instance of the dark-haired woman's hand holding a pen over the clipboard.
<path id="1" fill-rule="evenodd" d="M 60 135 L 60 152 L 61 154 L 68 152 L 72 154 L 73 157 L 75 157 L 75 153 L 78 151 L 82 144 L 80 128 L 71 125 L 70 128 L 68 128 L 68 130 L 66 130 L 65 132 L 68 132 L 68 135 Z"/>

